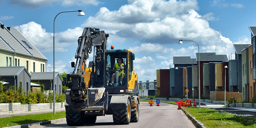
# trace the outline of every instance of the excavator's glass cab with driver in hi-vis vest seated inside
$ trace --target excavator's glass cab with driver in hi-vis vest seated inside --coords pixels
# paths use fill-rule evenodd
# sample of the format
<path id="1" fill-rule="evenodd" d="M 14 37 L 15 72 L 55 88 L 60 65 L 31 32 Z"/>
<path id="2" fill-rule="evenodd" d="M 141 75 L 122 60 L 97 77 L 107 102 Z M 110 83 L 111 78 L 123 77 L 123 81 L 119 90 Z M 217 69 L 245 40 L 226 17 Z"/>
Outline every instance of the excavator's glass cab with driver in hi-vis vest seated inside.
<path id="1" fill-rule="evenodd" d="M 105 64 L 106 64 L 106 91 L 109 93 L 133 93 L 137 91 L 137 74 L 134 72 L 133 61 L 134 53 L 129 49 L 122 50 L 106 50 Z M 122 67 L 117 67 L 117 59 L 122 59 Z"/>

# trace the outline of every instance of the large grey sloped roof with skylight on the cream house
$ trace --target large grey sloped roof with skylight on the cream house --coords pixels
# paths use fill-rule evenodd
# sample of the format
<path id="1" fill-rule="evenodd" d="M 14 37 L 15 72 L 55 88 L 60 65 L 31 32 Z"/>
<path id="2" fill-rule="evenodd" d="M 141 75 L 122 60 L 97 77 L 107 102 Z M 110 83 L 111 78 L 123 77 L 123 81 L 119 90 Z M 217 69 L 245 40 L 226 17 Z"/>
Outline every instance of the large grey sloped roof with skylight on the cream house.
<path id="1" fill-rule="evenodd" d="M 4 26 L 1 22 L 0 25 L 0 50 L 48 60 L 19 30 Z"/>

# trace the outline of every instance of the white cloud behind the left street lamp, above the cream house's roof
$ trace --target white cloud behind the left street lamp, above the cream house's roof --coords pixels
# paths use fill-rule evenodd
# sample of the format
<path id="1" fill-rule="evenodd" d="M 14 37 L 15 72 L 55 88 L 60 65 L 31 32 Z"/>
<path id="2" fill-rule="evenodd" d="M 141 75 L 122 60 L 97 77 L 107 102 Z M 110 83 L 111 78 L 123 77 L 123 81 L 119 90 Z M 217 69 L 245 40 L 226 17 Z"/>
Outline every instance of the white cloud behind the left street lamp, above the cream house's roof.
<path id="1" fill-rule="evenodd" d="M 15 26 L 40 52 L 53 51 L 53 33 L 46 32 L 40 24 L 29 22 Z M 69 46 L 76 45 L 83 28 L 68 29 L 65 32 L 55 33 L 55 51 L 67 52 Z"/>

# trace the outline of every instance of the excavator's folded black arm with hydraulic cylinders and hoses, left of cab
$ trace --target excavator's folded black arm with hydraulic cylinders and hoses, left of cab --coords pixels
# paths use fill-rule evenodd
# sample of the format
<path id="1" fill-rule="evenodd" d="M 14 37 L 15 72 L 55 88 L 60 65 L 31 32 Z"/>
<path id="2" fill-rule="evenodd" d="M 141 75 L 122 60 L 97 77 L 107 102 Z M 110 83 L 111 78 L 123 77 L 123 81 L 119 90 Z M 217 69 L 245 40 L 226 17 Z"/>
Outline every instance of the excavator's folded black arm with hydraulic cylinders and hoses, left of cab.
<path id="1" fill-rule="evenodd" d="M 76 63 L 71 63 L 71 66 L 74 67 L 74 71 L 67 74 L 67 81 L 65 82 L 70 87 L 70 100 L 75 100 L 76 106 L 88 107 L 88 89 L 83 78 L 86 62 L 89 58 L 89 54 L 92 52 L 92 47 L 94 47 L 93 60 L 95 61 L 93 61 L 93 73 L 91 75 L 91 80 L 93 81 L 94 69 L 98 71 L 98 69 L 102 69 L 101 67 L 104 66 L 101 64 L 101 62 L 104 59 L 102 57 L 104 57 L 103 51 L 106 49 L 107 38 L 108 34 L 106 34 L 104 31 L 100 31 L 98 28 L 84 28 L 82 36 L 78 38 L 78 48 L 75 54 Z M 97 49 L 96 54 L 95 48 Z M 101 76 L 104 75 L 103 73 L 101 74 Z M 69 82 L 70 78 L 71 82 Z M 94 82 L 92 82 L 92 85 L 93 83 Z M 78 104 L 79 102 L 81 102 L 80 105 Z"/>

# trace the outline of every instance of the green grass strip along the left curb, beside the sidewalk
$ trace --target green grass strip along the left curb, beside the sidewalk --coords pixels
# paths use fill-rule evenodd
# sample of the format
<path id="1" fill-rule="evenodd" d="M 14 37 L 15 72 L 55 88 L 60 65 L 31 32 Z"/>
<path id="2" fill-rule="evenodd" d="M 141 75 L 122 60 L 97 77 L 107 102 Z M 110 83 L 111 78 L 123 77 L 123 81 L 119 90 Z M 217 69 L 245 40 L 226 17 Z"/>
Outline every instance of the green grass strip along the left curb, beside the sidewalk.
<path id="1" fill-rule="evenodd" d="M 50 121 L 55 119 L 65 118 L 65 111 L 51 113 L 42 113 L 35 115 L 22 115 L 22 116 L 11 116 L 6 118 L 0 118 L 0 127 L 16 126 L 21 124 L 30 124 L 34 122 Z"/>

